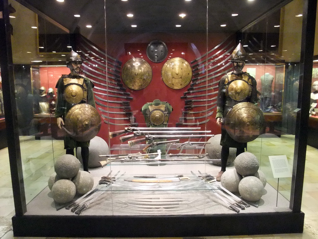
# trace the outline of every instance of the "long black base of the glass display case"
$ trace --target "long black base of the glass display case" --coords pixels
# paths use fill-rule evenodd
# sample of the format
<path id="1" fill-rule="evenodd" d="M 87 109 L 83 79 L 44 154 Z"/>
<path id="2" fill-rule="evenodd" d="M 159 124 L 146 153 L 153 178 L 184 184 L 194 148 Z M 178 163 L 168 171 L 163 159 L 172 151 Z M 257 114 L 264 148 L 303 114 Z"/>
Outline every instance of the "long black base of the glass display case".
<path id="1" fill-rule="evenodd" d="M 12 218 L 14 236 L 187 237 L 302 233 L 304 213 L 187 216 L 42 216 Z"/>

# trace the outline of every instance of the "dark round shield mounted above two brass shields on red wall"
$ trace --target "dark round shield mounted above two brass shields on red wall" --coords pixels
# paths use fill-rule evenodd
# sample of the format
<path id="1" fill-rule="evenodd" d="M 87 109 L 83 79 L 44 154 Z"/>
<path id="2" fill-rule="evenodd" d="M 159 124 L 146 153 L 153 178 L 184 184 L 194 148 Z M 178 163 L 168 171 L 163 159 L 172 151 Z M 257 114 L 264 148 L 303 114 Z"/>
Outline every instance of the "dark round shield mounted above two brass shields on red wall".
<path id="1" fill-rule="evenodd" d="M 148 44 L 146 53 L 150 61 L 159 63 L 166 59 L 168 48 L 163 41 L 153 40 Z"/>

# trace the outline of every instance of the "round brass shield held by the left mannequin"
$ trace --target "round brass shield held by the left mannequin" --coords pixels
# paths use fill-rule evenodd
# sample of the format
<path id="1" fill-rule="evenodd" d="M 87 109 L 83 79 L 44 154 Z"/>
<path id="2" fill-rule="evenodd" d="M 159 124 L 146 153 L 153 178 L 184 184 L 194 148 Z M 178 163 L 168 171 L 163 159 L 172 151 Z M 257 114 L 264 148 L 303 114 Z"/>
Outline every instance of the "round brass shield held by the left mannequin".
<path id="1" fill-rule="evenodd" d="M 64 123 L 64 127 L 74 134 L 70 136 L 82 142 L 93 139 L 101 127 L 99 113 L 88 104 L 74 105 L 67 112 Z"/>

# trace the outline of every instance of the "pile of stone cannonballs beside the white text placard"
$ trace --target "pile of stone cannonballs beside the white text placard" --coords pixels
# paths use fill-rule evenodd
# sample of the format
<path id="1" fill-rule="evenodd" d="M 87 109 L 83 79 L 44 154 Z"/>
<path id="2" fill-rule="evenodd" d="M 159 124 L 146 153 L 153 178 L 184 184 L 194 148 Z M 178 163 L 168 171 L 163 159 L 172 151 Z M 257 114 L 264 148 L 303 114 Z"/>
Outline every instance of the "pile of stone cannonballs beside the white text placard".
<path id="1" fill-rule="evenodd" d="M 230 192 L 239 192 L 247 201 L 259 200 L 266 185 L 265 174 L 259 170 L 255 155 L 245 152 L 234 160 L 235 169 L 226 170 L 221 177 L 221 185 Z"/>

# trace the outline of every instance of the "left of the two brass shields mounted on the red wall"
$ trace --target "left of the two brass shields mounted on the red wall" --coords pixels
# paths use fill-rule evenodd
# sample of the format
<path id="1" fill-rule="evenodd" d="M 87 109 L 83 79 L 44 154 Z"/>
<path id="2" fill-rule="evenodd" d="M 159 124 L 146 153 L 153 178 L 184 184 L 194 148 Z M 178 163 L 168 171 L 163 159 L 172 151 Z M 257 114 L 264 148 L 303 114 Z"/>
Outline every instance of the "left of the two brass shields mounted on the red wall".
<path id="1" fill-rule="evenodd" d="M 125 63 L 121 75 L 128 88 L 141 90 L 149 85 L 152 70 L 148 62 L 140 58 L 134 58 Z"/>

